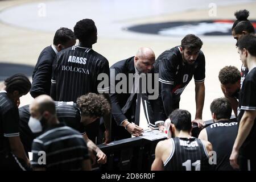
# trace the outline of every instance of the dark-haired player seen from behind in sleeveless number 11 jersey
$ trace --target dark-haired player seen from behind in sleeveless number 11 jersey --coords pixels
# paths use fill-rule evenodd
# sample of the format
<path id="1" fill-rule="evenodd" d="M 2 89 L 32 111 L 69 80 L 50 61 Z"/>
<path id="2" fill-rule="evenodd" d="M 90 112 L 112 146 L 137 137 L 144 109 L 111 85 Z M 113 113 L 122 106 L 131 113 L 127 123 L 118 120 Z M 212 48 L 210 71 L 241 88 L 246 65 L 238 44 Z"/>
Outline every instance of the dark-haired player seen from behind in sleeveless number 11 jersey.
<path id="1" fill-rule="evenodd" d="M 200 171 L 210 169 L 210 142 L 191 137 L 191 114 L 176 109 L 171 115 L 170 130 L 174 138 L 160 141 L 155 148 L 151 170 Z"/>

